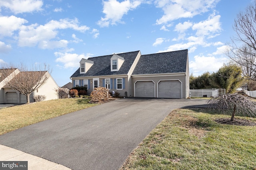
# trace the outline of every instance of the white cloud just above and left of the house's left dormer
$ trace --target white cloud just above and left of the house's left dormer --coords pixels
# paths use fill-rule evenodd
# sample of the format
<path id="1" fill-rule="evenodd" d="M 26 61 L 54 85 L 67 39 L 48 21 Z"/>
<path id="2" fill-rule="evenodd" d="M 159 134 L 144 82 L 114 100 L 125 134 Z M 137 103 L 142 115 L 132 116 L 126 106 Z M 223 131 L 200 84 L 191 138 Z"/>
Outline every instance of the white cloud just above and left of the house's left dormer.
<path id="1" fill-rule="evenodd" d="M 55 52 L 54 55 L 58 57 L 55 61 L 64 64 L 64 68 L 78 68 L 81 59 L 88 59 L 92 54 L 76 54 L 76 53 L 60 53 Z"/>

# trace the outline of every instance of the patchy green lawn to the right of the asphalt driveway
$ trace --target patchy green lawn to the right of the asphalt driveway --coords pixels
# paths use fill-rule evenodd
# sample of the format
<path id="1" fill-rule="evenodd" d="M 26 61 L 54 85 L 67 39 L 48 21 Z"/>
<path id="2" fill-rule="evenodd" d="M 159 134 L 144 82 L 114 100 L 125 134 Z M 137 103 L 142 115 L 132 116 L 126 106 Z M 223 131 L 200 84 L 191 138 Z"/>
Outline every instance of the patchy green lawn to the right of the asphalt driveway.
<path id="1" fill-rule="evenodd" d="M 256 126 L 224 125 L 210 109 L 172 111 L 122 170 L 256 170 Z M 239 117 L 236 119 L 256 118 Z"/>

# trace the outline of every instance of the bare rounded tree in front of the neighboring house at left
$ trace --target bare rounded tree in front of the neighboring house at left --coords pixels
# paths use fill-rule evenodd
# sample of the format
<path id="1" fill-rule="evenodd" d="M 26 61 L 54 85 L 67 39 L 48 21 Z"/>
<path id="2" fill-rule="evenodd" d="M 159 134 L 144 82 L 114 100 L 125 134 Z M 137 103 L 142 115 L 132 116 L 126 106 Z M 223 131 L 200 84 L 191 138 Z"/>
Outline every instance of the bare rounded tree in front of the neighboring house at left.
<path id="1" fill-rule="evenodd" d="M 18 71 L 14 71 L 17 68 Z M 40 88 L 50 77 L 48 70 L 49 66 L 46 67 L 46 65 L 44 65 L 44 71 L 40 66 L 32 66 L 32 68 L 28 69 L 24 64 L 3 66 L 3 74 L 9 75 L 4 80 L 4 84 L 6 87 L 24 94 L 27 98 L 27 103 L 30 103 L 30 94 Z"/>

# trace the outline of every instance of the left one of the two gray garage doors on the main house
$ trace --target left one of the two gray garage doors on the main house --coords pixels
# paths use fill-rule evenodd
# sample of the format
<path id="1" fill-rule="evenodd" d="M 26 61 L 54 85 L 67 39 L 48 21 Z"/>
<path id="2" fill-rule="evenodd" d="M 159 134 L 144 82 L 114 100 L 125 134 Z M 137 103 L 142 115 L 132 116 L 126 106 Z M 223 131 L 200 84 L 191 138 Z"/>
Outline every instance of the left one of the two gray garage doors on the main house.
<path id="1" fill-rule="evenodd" d="M 136 82 L 135 97 L 154 98 L 155 84 L 152 81 Z"/>

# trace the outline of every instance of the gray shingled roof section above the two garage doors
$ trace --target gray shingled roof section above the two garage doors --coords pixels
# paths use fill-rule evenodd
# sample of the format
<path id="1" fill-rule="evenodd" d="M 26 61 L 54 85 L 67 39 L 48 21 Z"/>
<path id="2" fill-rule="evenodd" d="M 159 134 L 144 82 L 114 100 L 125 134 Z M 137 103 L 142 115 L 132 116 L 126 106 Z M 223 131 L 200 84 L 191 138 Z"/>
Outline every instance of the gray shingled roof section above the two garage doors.
<path id="1" fill-rule="evenodd" d="M 142 55 L 133 71 L 137 74 L 186 72 L 188 50 Z"/>

